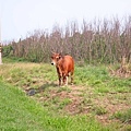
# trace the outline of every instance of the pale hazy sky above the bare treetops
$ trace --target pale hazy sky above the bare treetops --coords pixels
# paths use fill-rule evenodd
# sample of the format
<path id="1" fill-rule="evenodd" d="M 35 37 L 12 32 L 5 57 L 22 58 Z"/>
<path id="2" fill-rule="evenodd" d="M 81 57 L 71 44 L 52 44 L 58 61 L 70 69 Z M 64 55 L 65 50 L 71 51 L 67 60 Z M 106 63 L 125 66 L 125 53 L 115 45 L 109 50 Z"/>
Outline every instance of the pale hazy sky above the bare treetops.
<path id="1" fill-rule="evenodd" d="M 126 15 L 131 15 L 131 0 L 0 0 L 0 39 L 16 41 L 55 24 Z"/>

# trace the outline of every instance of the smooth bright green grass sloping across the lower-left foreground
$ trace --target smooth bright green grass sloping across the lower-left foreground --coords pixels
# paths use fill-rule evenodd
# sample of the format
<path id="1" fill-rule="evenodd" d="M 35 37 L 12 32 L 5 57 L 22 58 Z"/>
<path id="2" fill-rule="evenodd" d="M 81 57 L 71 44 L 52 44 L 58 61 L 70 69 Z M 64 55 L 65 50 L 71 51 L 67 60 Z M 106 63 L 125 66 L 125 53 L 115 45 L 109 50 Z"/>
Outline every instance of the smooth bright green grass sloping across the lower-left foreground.
<path id="1" fill-rule="evenodd" d="M 62 104 L 69 103 L 67 99 Z M 60 117 L 0 81 L 0 130 L 2 131 L 109 131 L 90 116 Z"/>

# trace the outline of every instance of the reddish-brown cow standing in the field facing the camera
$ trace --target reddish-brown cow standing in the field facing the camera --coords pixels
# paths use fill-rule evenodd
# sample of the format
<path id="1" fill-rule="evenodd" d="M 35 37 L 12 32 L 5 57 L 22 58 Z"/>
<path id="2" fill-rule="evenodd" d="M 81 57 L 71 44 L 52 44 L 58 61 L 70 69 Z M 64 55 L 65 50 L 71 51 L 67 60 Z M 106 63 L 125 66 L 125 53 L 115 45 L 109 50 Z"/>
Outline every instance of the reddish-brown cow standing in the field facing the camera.
<path id="1" fill-rule="evenodd" d="M 71 83 L 73 83 L 74 60 L 71 56 L 61 56 L 61 53 L 52 53 L 51 64 L 56 66 L 59 78 L 59 85 L 68 85 L 68 76 L 71 75 Z"/>

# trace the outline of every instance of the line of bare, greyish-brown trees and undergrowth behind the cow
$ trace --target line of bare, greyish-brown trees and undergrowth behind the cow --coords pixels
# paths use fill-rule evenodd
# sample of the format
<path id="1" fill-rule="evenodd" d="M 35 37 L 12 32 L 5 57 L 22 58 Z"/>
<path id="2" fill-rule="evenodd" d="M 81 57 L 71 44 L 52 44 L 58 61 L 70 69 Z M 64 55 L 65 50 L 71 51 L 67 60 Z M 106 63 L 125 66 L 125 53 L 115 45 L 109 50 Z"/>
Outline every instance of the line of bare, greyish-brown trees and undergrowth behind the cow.
<path id="1" fill-rule="evenodd" d="M 36 29 L 26 38 L 3 47 L 3 56 L 20 57 L 33 62 L 49 62 L 51 52 L 71 55 L 75 61 L 115 63 L 124 57 L 131 61 L 131 16 L 119 20 L 83 20 L 55 25 L 51 32 Z"/>

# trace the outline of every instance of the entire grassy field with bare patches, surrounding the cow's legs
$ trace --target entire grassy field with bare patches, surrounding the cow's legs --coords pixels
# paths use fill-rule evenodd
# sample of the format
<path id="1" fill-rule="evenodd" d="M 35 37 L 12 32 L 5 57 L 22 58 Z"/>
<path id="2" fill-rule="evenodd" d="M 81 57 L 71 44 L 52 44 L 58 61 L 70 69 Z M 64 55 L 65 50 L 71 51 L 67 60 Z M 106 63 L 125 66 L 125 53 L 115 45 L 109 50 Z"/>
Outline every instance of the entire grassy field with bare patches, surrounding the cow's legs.
<path id="1" fill-rule="evenodd" d="M 3 61 L 0 130 L 131 130 L 131 78 L 111 76 L 105 66 L 83 66 L 75 67 L 73 85 L 59 87 L 50 64 Z"/>

